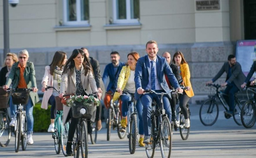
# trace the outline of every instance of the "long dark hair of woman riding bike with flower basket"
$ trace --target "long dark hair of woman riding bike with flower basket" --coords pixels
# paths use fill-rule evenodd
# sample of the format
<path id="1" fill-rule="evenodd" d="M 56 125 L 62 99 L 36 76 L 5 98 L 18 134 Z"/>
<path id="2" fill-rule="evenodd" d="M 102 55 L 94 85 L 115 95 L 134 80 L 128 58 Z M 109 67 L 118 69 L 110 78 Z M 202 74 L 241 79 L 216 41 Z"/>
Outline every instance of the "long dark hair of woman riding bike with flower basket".
<path id="1" fill-rule="evenodd" d="M 63 74 L 68 73 L 68 71 L 70 72 L 69 75 L 72 75 L 74 73 L 75 62 L 73 59 L 76 58 L 79 53 L 84 56 L 84 62 L 82 63 L 85 71 L 84 75 L 86 76 L 89 71 L 92 71 L 92 66 L 89 63 L 88 58 L 85 56 L 84 51 L 82 49 L 74 49 L 72 55 L 69 57 L 68 61 L 64 66 Z"/>

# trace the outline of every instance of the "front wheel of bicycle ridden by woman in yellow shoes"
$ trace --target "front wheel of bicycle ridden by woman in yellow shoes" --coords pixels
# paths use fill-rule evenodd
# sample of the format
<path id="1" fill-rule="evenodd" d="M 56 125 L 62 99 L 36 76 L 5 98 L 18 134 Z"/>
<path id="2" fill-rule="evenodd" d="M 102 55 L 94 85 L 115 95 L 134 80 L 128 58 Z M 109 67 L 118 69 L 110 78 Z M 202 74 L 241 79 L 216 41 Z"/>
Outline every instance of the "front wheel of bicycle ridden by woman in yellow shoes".
<path id="1" fill-rule="evenodd" d="M 132 115 L 130 120 L 130 131 L 129 131 L 129 151 L 130 154 L 134 154 L 136 145 L 138 142 L 138 128 L 137 128 L 137 116 Z"/>

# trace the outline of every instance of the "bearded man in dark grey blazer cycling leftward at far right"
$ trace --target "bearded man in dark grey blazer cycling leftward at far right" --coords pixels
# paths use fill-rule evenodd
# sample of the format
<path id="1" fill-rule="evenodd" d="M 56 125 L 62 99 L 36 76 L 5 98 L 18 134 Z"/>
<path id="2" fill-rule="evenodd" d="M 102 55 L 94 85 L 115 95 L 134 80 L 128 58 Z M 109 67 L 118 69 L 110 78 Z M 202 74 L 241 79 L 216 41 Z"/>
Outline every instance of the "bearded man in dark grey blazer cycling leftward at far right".
<path id="1" fill-rule="evenodd" d="M 212 84 L 218 78 L 220 78 L 220 76 L 224 72 L 227 73 L 225 83 L 221 84 L 221 86 L 223 87 L 227 86 L 227 88 L 224 91 L 226 95 L 223 95 L 223 97 L 229 106 L 229 110 L 225 111 L 224 113 L 229 116 L 232 116 L 235 104 L 234 96 L 235 93 L 242 89 L 241 85 L 245 81 L 245 75 L 242 72 L 240 63 L 236 62 L 236 58 L 234 55 L 229 55 L 227 60 L 228 61 L 223 64 L 222 68 L 217 73 L 217 75 L 211 81 L 208 81 L 206 84 Z"/>

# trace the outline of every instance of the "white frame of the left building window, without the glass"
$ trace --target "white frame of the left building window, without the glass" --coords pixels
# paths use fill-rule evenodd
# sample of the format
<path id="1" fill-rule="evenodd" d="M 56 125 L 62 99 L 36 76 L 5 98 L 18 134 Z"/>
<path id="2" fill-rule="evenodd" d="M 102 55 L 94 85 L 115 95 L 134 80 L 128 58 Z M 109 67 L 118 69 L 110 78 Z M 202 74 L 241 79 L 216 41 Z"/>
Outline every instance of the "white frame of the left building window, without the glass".
<path id="1" fill-rule="evenodd" d="M 63 19 L 64 19 L 63 22 L 64 22 L 64 25 L 89 25 L 89 20 L 81 20 L 81 1 L 82 0 L 76 0 L 77 20 L 76 21 L 68 21 L 68 18 L 67 18 L 68 0 L 63 0 Z"/>

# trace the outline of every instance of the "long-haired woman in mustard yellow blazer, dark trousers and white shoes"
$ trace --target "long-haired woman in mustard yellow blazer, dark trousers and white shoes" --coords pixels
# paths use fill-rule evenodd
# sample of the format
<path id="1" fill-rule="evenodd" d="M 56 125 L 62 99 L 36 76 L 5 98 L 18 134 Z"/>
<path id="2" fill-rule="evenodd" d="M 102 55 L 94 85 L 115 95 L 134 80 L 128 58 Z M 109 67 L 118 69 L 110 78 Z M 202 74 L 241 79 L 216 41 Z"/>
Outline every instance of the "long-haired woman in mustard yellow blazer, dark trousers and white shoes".
<path id="1" fill-rule="evenodd" d="M 192 90 L 192 85 L 190 83 L 190 72 L 189 72 L 189 66 L 187 62 L 185 61 L 184 55 L 182 52 L 177 51 L 172 58 L 172 62 L 175 63 L 180 71 L 180 76 L 183 79 L 182 85 L 184 87 L 187 87 L 187 90 L 183 91 L 183 95 L 179 96 L 179 106 L 181 108 L 182 113 L 184 114 L 185 118 L 185 128 L 190 127 L 190 120 L 189 120 L 189 114 L 186 108 L 186 104 L 189 101 L 189 98 L 194 96 L 194 92 Z"/>

